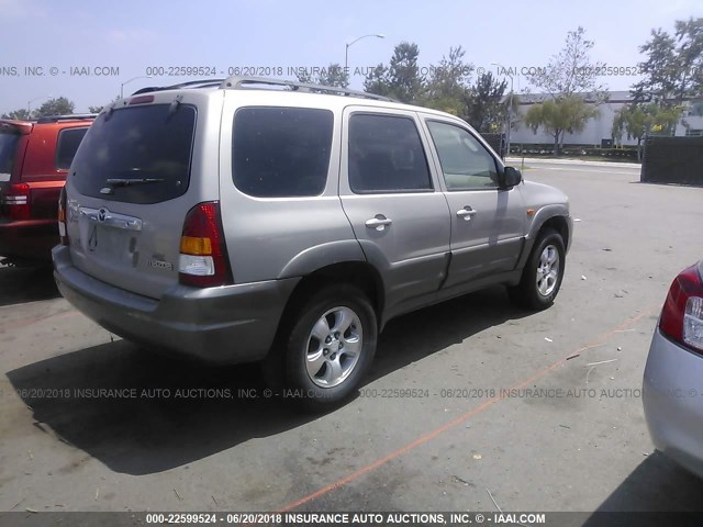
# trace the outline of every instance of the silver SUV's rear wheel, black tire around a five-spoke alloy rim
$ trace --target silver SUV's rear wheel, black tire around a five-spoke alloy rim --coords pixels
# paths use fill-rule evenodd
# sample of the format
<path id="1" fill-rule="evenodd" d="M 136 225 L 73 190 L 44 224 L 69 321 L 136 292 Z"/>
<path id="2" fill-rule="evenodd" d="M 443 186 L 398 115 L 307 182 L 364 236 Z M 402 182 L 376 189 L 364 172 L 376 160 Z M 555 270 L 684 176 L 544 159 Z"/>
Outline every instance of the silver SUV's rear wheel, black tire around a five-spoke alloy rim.
<path id="1" fill-rule="evenodd" d="M 353 395 L 373 360 L 376 313 L 359 289 L 345 284 L 321 289 L 297 311 L 294 322 L 281 338 L 283 395 L 308 412 L 332 410 Z M 342 323 L 336 327 L 339 330 L 335 330 L 335 321 Z M 315 336 L 315 326 L 317 334 L 327 335 L 330 344 Z"/>

